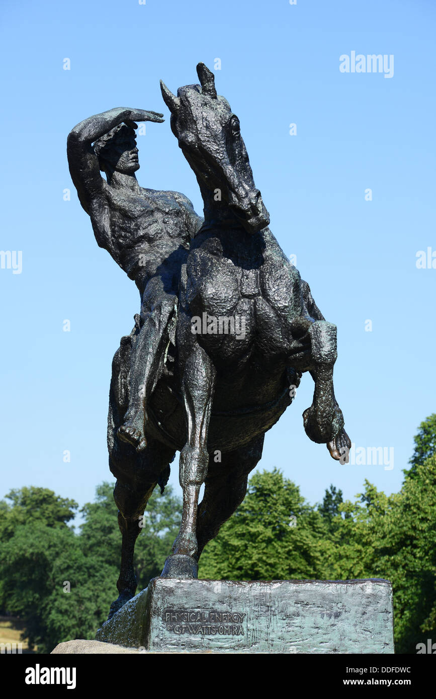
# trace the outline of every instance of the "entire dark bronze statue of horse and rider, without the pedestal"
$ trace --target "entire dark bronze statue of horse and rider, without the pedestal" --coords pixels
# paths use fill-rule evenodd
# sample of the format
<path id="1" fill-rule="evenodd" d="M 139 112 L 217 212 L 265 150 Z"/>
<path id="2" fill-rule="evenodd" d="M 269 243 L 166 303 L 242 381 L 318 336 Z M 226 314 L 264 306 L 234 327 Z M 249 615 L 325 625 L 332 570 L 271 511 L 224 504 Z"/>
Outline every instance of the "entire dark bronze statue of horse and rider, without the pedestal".
<path id="1" fill-rule="evenodd" d="M 183 194 L 138 185 L 136 121 L 161 122 L 161 114 L 115 108 L 68 136 L 71 177 L 97 243 L 141 297 L 110 383 L 109 463 L 122 532 L 110 616 L 135 594 L 140 518 L 154 487 L 165 486 L 177 450 L 183 516 L 162 575 L 192 578 L 203 548 L 242 502 L 264 435 L 303 373 L 314 380 L 303 413 L 307 435 L 333 459 L 351 446 L 333 391 L 336 327 L 268 228 L 238 117 L 208 68 L 200 63 L 197 73 L 200 85 L 177 96 L 163 83 L 161 90 L 204 219 Z"/>

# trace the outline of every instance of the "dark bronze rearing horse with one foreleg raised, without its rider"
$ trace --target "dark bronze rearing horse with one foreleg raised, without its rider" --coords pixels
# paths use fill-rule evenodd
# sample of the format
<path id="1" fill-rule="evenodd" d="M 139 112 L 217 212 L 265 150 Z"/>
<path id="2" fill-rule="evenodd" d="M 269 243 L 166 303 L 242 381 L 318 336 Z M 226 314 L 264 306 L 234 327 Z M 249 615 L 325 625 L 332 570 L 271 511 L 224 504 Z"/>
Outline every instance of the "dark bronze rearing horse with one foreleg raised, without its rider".
<path id="1" fill-rule="evenodd" d="M 203 548 L 245 497 L 264 435 L 291 404 L 304 372 L 314 380 L 313 402 L 303 413 L 307 435 L 325 443 L 333 459 L 351 447 L 333 391 L 336 328 L 268 228 L 238 117 L 217 95 L 208 68 L 198 64 L 197 73 L 200 85 L 181 87 L 177 96 L 161 83 L 171 129 L 201 189 L 205 220 L 180 267 L 177 312 L 140 452 L 118 433 L 138 324 L 112 363 L 108 448 L 122 563 L 110 616 L 136 592 L 138 520 L 154 487 L 168 480 L 177 450 L 182 524 L 163 577 L 197 577 Z"/>

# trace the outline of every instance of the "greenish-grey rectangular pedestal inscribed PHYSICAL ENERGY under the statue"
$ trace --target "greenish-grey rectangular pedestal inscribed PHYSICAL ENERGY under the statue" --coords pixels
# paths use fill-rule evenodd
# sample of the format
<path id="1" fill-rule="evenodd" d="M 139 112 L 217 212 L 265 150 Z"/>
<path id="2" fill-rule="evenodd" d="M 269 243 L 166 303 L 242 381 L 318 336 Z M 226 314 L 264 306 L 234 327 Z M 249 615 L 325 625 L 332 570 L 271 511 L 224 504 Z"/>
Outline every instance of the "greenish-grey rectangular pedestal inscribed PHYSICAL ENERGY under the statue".
<path id="1" fill-rule="evenodd" d="M 163 652 L 393 653 L 392 588 L 382 579 L 158 577 L 96 639 Z"/>

